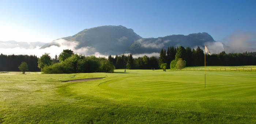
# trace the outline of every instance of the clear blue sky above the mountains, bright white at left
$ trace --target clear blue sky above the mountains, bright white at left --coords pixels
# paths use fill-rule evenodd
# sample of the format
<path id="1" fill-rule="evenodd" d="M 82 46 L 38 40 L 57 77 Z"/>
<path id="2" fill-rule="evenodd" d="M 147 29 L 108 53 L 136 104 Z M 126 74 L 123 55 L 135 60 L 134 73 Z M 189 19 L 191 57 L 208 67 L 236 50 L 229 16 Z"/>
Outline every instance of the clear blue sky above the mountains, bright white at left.
<path id="1" fill-rule="evenodd" d="M 103 25 L 143 38 L 208 32 L 225 42 L 256 32 L 256 0 L 0 0 L 0 41 L 50 42 Z"/>

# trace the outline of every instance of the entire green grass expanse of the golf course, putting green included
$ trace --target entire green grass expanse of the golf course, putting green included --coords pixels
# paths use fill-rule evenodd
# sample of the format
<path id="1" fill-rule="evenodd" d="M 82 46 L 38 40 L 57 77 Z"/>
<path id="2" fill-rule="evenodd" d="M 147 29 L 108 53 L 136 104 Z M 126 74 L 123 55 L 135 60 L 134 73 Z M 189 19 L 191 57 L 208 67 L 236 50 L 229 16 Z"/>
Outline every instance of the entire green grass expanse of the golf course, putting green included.
<path id="1" fill-rule="evenodd" d="M 0 123 L 256 123 L 256 71 L 123 71 L 0 74 Z"/>

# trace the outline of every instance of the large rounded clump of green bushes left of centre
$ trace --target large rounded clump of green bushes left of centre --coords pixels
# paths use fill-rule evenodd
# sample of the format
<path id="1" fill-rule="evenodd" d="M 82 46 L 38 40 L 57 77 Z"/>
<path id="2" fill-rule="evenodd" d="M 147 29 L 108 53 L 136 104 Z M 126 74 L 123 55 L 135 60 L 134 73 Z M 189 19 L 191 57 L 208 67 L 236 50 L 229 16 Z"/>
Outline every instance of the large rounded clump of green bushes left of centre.
<path id="1" fill-rule="evenodd" d="M 54 63 L 45 66 L 42 71 L 46 74 L 62 74 L 62 73 L 93 73 L 106 72 L 113 73 L 114 66 L 105 58 L 97 58 L 95 56 L 84 57 L 82 55 L 71 55 L 60 63 Z"/>

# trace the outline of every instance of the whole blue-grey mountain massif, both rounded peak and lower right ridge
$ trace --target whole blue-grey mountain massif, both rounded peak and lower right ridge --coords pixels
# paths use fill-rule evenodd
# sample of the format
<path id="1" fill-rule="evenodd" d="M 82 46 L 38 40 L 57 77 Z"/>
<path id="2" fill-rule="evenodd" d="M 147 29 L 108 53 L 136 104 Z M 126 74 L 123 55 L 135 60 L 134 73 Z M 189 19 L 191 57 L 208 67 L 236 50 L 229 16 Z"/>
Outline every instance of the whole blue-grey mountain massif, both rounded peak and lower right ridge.
<path id="1" fill-rule="evenodd" d="M 189 35 L 169 35 L 158 38 L 142 38 L 131 28 L 124 26 L 99 26 L 85 29 L 73 36 L 65 38 L 67 41 L 77 41 L 76 49 L 92 47 L 101 54 L 122 54 L 122 53 L 153 53 L 159 52 L 162 48 L 169 46 L 195 47 L 203 46 L 206 42 L 214 42 L 211 35 L 206 32 Z M 44 49 L 50 46 L 60 46 L 54 40 L 41 47 Z"/>

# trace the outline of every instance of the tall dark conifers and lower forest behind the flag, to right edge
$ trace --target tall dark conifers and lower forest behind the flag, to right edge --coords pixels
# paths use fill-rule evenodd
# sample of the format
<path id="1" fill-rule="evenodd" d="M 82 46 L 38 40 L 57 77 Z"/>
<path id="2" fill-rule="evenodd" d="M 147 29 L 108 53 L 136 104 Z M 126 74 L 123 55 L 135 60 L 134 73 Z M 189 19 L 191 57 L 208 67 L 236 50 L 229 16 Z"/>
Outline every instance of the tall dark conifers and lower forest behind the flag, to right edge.
<path id="1" fill-rule="evenodd" d="M 203 66 L 204 65 L 204 51 L 197 47 L 168 47 L 167 50 L 160 51 L 158 64 L 162 63 L 170 65 L 167 68 L 177 68 L 178 60 L 185 61 L 185 66 Z M 173 63 L 173 64 L 172 64 Z M 182 63 L 184 64 L 184 63 Z M 219 54 L 206 55 L 206 65 L 208 66 L 244 66 L 256 65 L 256 52 L 244 53 L 225 53 L 222 51 Z"/>

